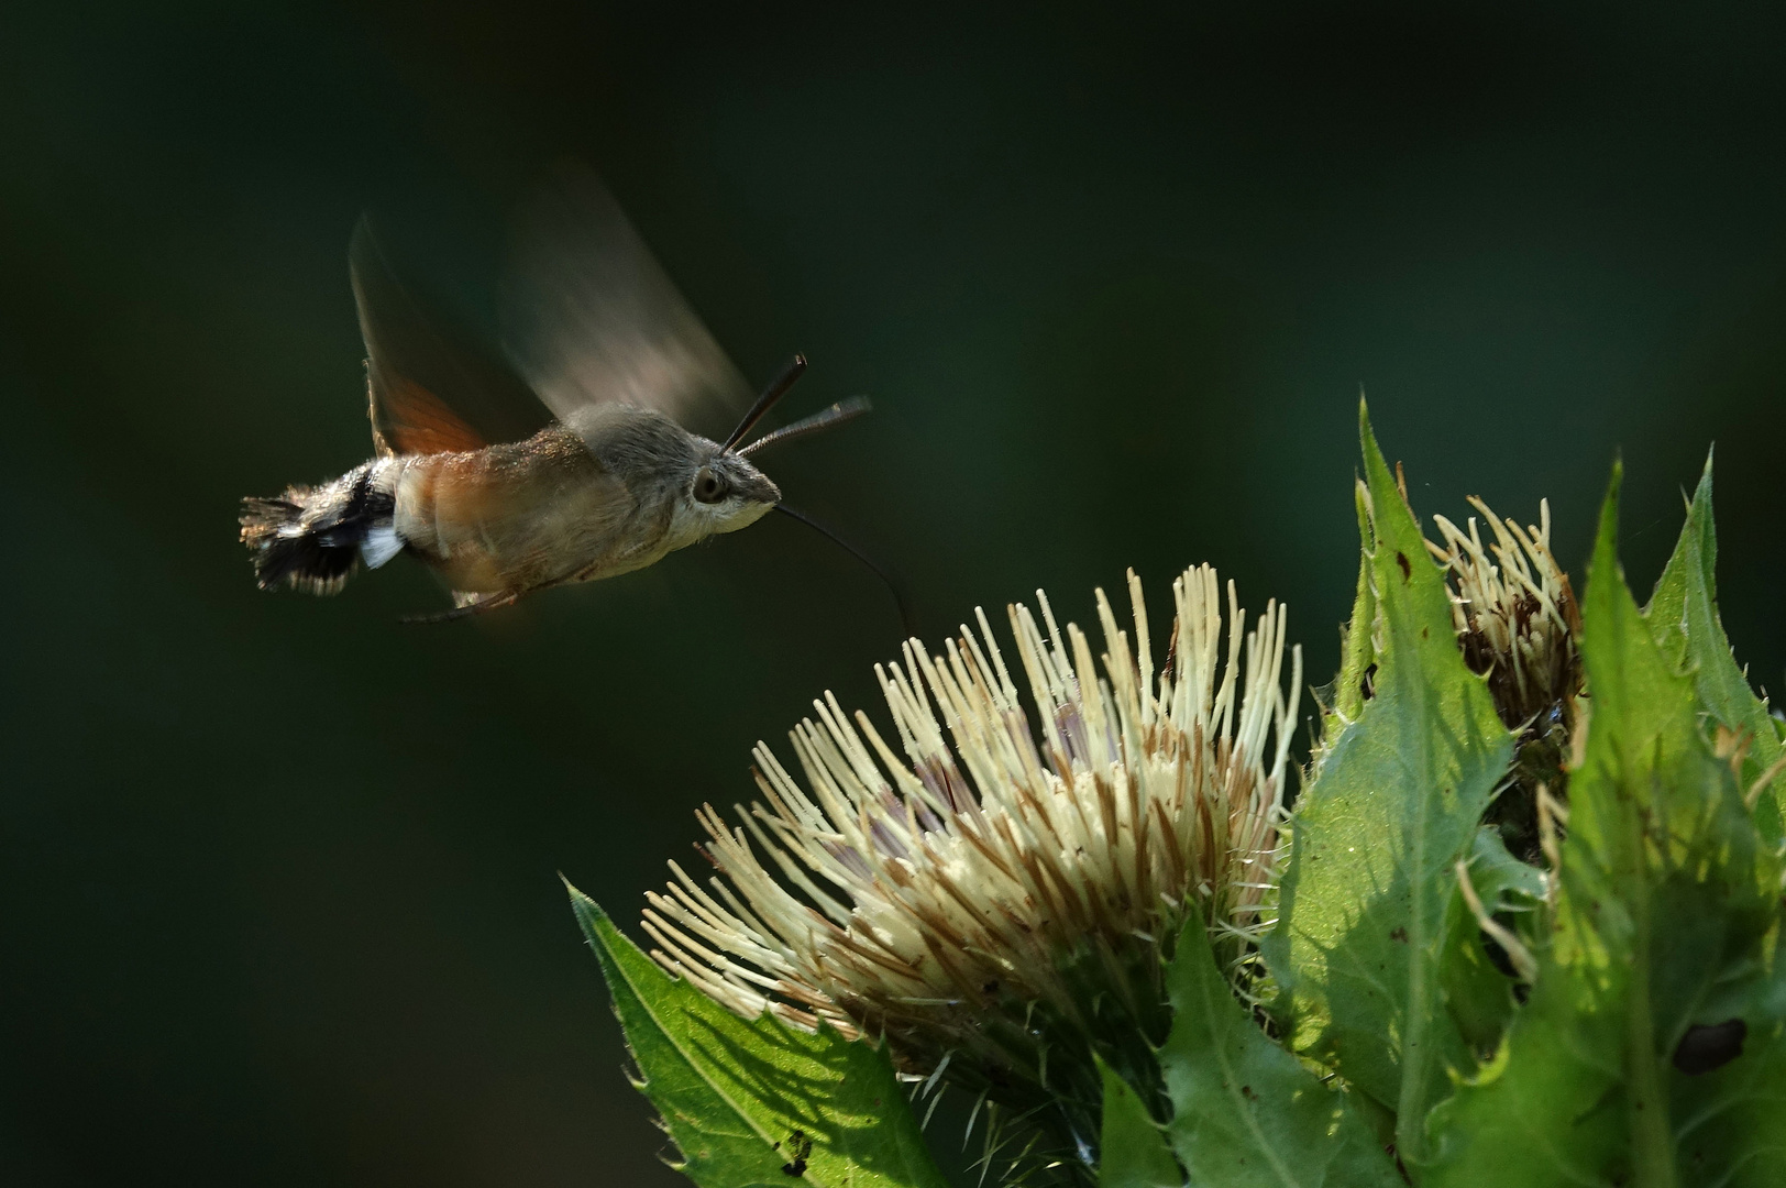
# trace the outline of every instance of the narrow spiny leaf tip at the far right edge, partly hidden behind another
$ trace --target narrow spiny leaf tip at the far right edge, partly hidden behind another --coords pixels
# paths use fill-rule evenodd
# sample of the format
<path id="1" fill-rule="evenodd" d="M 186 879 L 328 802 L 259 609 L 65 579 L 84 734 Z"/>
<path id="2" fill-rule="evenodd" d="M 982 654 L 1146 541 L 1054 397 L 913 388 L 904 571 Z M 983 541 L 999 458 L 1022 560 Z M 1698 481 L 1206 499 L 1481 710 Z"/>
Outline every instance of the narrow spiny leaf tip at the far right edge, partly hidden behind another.
<path id="1" fill-rule="evenodd" d="M 1686 523 L 1675 543 L 1668 566 L 1663 568 L 1645 609 L 1650 632 L 1661 648 L 1677 657 L 1693 673 L 1693 688 L 1700 702 L 1729 731 L 1743 734 L 1748 754 L 1743 763 L 1745 786 L 1772 774 L 1786 747 L 1779 729 L 1768 716 L 1768 702 L 1756 697 L 1748 677 L 1731 654 L 1731 640 L 1718 620 L 1718 531 L 1711 511 L 1711 456 L 1700 473 L 1698 489 L 1688 504 Z M 1786 784 L 1782 784 L 1786 786 Z M 1781 811 L 1772 788 L 1756 800 L 1756 820 L 1763 836 L 1775 847 L 1781 843 Z"/>

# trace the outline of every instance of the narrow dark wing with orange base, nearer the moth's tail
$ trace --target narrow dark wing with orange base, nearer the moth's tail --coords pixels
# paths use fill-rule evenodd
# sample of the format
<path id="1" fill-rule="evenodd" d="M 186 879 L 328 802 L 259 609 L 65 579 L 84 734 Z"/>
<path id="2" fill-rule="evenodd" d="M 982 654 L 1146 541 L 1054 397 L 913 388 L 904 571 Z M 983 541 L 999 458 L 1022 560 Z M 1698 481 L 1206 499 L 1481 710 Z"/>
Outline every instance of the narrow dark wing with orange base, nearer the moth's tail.
<path id="1" fill-rule="evenodd" d="M 366 341 L 371 439 L 380 454 L 477 450 L 552 423 L 543 404 L 470 334 L 439 332 L 391 272 L 364 218 L 348 247 L 359 332 Z"/>

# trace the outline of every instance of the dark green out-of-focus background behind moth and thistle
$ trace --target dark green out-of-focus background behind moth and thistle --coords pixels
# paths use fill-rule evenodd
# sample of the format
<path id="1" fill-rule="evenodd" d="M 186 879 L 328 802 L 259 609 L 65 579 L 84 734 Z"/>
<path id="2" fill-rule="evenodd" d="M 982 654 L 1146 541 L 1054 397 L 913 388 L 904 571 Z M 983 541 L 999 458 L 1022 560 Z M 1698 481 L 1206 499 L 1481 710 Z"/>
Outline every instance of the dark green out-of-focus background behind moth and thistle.
<path id="1" fill-rule="evenodd" d="M 629 927 L 693 809 L 898 620 L 784 520 L 480 622 L 416 565 L 254 588 L 241 495 L 364 461 L 346 243 L 491 323 L 604 172 L 791 418 L 788 498 L 932 641 L 1214 563 L 1322 682 L 1359 388 L 1416 511 L 1643 597 L 1718 447 L 1786 682 L 1786 11 L 1536 4 L 14 4 L 0 16 L 0 1179 L 680 1183 L 559 872 Z M 941 1147 L 956 1131 L 938 1131 Z"/>

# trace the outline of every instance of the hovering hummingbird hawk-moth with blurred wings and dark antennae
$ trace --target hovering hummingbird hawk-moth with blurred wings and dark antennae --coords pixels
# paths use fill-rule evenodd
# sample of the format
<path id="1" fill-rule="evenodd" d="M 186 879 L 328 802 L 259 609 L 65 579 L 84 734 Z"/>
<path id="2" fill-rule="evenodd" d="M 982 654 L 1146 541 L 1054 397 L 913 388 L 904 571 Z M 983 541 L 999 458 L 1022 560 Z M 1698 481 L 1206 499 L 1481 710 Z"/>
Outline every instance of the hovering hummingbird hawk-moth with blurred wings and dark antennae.
<path id="1" fill-rule="evenodd" d="M 359 565 L 407 552 L 457 607 L 427 618 L 457 618 L 639 570 L 770 509 L 804 520 L 750 456 L 868 411 L 857 397 L 745 443 L 805 361 L 750 404 L 738 368 L 588 173 L 563 173 L 516 218 L 500 289 L 509 366 L 429 325 L 366 220 L 348 261 L 375 457 L 320 486 L 243 500 L 241 541 L 263 590 L 336 593 Z M 723 441 L 691 429 L 716 418 L 736 418 Z"/>

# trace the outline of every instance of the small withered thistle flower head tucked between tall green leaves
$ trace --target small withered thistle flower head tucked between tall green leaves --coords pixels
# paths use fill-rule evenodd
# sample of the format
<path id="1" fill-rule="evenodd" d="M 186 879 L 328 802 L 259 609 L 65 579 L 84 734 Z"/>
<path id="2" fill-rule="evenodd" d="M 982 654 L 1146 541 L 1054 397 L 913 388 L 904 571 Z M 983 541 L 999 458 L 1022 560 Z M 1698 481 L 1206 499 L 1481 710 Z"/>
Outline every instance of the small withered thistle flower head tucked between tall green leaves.
<path id="1" fill-rule="evenodd" d="M 1490 809 L 1507 849 L 1531 863 L 1543 859 L 1540 800 L 1563 797 L 1570 732 L 1582 693 L 1581 611 L 1568 573 L 1550 552 L 1550 502 L 1540 522 L 1522 529 L 1479 498 L 1495 540 L 1484 545 L 1475 516 L 1468 534 L 1445 516 L 1432 522 L 1445 547 L 1427 548 L 1447 570 L 1452 622 L 1465 663 L 1488 677 L 1500 720 L 1518 731 L 1509 786 Z"/>

